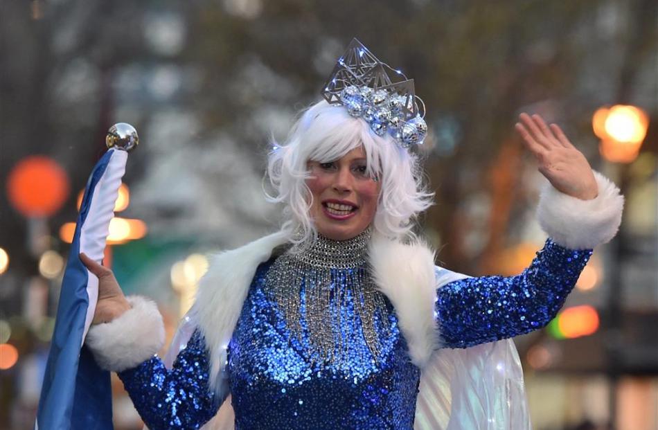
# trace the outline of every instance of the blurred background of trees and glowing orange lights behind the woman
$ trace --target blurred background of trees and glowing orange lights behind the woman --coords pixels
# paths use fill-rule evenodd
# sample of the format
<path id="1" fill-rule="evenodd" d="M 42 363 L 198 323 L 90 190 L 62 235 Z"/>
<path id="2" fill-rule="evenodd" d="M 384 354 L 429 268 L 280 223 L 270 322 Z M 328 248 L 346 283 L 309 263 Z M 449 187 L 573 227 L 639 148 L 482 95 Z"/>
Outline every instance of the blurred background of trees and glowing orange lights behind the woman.
<path id="1" fill-rule="evenodd" d="M 141 144 L 105 261 L 169 336 L 206 253 L 276 229 L 269 140 L 358 37 L 416 80 L 441 265 L 522 271 L 544 183 L 513 131 L 558 123 L 626 196 L 563 312 L 516 339 L 534 428 L 658 429 L 655 0 L 0 0 L 0 428 L 33 425 L 76 202 L 113 123 Z M 116 429 L 140 429 L 114 379 Z"/>

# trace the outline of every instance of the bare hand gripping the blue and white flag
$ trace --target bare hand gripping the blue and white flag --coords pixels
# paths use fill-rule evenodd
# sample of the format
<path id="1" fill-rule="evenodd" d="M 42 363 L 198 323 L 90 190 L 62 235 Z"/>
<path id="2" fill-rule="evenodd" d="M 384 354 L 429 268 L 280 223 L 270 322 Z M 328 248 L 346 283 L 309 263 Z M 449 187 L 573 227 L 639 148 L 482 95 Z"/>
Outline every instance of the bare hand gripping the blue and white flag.
<path id="1" fill-rule="evenodd" d="M 130 303 L 123 295 L 112 270 L 91 260 L 85 253 L 80 253 L 80 261 L 98 277 L 98 302 L 91 324 L 109 323 L 130 310 Z"/>

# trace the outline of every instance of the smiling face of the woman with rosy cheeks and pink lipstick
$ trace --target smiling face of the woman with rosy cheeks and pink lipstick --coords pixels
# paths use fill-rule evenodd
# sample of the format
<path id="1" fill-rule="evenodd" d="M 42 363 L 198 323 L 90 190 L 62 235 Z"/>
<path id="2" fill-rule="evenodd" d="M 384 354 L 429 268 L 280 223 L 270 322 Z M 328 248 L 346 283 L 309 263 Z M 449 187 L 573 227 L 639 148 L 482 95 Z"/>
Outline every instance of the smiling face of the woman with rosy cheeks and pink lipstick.
<path id="1" fill-rule="evenodd" d="M 348 240 L 375 218 L 380 183 L 366 173 L 366 153 L 357 147 L 330 163 L 309 161 L 306 180 L 313 196 L 310 215 L 321 235 Z"/>

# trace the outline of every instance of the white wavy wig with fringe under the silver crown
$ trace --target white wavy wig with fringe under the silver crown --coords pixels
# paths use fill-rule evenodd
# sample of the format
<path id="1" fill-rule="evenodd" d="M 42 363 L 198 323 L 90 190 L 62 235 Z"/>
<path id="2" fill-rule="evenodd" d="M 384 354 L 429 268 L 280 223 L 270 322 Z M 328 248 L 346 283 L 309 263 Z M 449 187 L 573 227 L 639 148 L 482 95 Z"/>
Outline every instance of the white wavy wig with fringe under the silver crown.
<path id="1" fill-rule="evenodd" d="M 267 174 L 274 193 L 267 199 L 283 204 L 282 229 L 299 249 L 317 237 L 309 213 L 308 161 L 336 161 L 363 146 L 367 173 L 382 186 L 373 228 L 388 238 L 413 236 L 417 215 L 432 205 L 434 194 L 423 185 L 418 156 L 402 149 L 388 134 L 377 136 L 365 120 L 350 116 L 340 105 L 317 102 L 303 111 L 283 145 L 276 141 L 273 145 Z"/>

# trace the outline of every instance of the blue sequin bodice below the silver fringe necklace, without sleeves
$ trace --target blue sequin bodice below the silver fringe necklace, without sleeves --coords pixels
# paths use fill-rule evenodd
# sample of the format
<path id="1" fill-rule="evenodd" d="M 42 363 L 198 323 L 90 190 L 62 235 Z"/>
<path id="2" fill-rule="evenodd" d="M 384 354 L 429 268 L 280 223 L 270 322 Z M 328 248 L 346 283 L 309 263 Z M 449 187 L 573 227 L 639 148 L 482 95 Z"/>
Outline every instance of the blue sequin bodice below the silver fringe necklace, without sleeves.
<path id="1" fill-rule="evenodd" d="M 390 303 L 375 319 L 375 357 L 351 293 L 340 306 L 330 301 L 345 341 L 331 361 L 314 361 L 305 319 L 297 339 L 265 282 L 267 267 L 259 268 L 229 343 L 236 429 L 411 429 L 420 370 L 409 361 Z"/>

